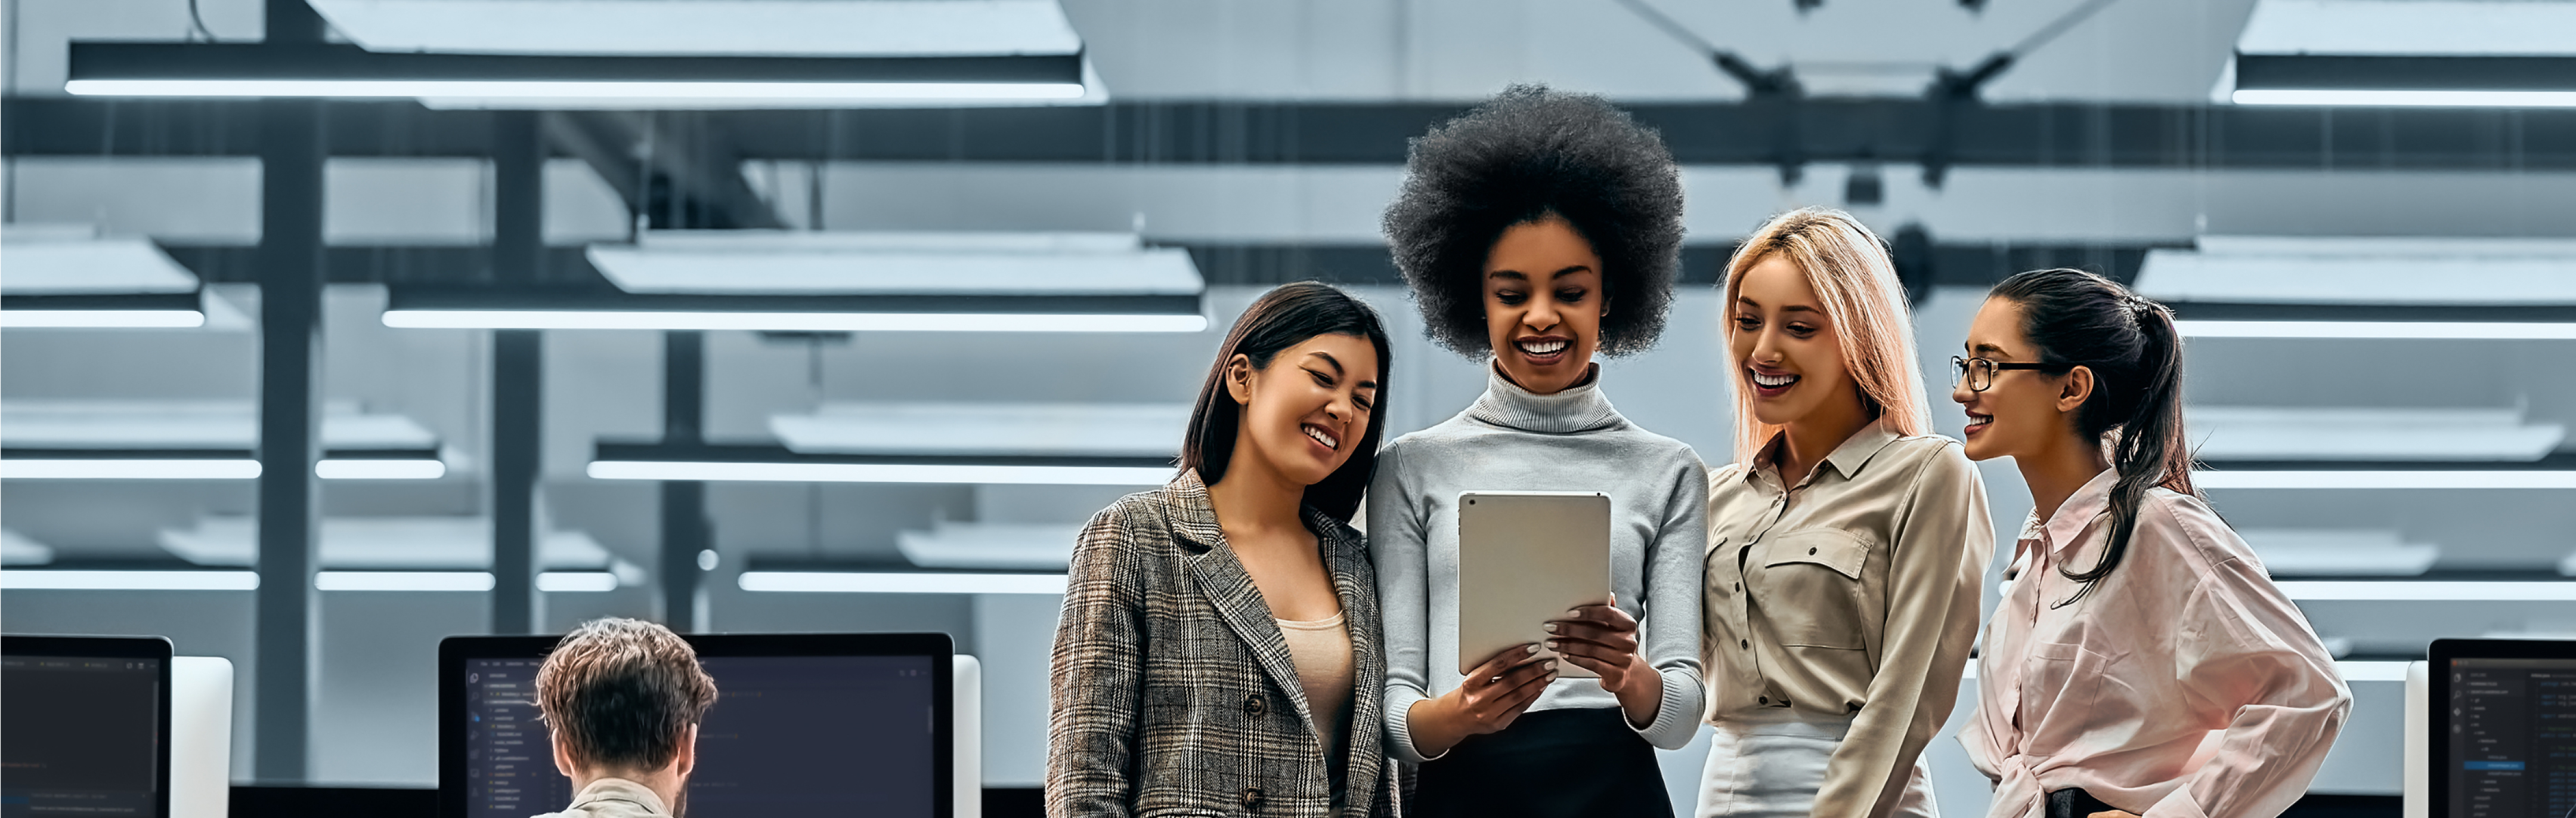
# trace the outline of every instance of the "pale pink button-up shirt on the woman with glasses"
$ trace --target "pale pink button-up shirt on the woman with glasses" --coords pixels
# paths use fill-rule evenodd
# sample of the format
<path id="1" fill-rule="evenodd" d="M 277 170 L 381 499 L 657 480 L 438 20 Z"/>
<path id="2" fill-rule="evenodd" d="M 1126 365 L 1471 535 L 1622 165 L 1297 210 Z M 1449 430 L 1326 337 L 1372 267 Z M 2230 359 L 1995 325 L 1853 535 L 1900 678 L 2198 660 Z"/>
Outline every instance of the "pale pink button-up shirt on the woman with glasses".
<path id="1" fill-rule="evenodd" d="M 2099 565 L 2115 480 L 2105 470 L 2022 526 L 1958 735 L 1996 779 L 1989 815 L 2045 815 L 2040 795 L 2066 787 L 2148 818 L 2280 815 L 2352 692 L 2254 550 L 2192 495 L 2146 490 L 2120 565 L 2069 604 L 2081 586 L 2058 568 Z"/>

